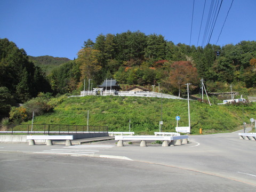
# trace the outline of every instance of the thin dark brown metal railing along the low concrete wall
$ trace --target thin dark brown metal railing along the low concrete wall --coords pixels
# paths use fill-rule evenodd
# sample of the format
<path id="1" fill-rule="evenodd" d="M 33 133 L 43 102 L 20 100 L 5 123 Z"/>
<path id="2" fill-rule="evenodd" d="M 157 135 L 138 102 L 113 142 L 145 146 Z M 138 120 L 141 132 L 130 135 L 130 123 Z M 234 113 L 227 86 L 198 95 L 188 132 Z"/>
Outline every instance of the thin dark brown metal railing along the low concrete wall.
<path id="1" fill-rule="evenodd" d="M 108 132 L 108 126 L 55 124 L 0 125 L 0 130 L 2 130 L 0 131 L 2 134 L 81 134 L 88 132 Z"/>

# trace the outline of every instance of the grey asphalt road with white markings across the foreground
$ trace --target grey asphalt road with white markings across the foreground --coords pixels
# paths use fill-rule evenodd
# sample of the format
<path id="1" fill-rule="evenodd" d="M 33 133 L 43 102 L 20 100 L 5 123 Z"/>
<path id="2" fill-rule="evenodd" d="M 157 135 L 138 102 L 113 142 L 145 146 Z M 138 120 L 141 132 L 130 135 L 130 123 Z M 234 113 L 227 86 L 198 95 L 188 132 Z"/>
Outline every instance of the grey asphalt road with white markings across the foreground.
<path id="1" fill-rule="evenodd" d="M 0 144 L 0 191 L 256 190 L 256 141 L 238 133 L 189 138 L 174 147 Z"/>

